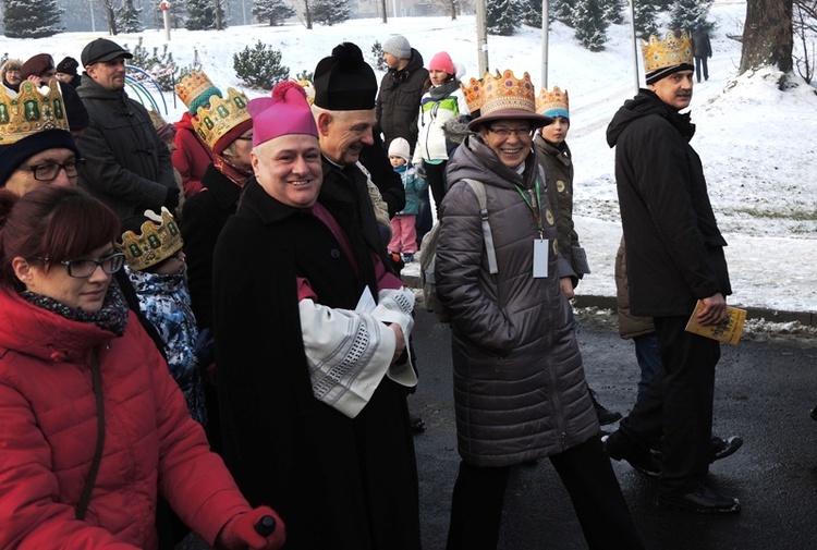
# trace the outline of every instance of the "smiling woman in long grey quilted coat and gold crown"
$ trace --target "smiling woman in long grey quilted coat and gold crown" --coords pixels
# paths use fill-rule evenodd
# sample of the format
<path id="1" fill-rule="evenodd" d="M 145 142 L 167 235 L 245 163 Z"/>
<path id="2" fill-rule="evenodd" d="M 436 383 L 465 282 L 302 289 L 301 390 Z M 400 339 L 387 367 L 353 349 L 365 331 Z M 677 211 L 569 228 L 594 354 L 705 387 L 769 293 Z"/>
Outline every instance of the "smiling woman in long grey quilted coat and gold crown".
<path id="1" fill-rule="evenodd" d="M 499 87 L 487 84 L 485 95 Z M 575 273 L 554 247 L 553 216 L 532 150 L 533 130 L 550 119 L 534 111 L 527 84 L 514 87 L 519 97 L 511 109 L 507 96 L 483 98 L 481 117 L 468 125 L 476 134 L 449 163 L 450 188 L 440 210 L 435 274 L 451 318 L 462 457 L 448 550 L 497 548 L 511 468 L 546 456 L 570 493 L 589 548 L 643 548 L 599 441 L 561 288 Z M 485 188 L 493 273 L 466 179 Z"/>

